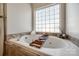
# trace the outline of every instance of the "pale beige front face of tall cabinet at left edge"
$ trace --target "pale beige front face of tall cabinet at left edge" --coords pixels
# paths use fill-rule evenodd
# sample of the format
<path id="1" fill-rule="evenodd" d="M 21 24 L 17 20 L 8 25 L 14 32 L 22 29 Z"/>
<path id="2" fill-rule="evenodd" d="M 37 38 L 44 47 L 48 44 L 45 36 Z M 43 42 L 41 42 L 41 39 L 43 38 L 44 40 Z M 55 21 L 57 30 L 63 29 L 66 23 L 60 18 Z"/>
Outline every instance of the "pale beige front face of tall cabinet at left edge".
<path id="1" fill-rule="evenodd" d="M 0 56 L 3 55 L 4 46 L 4 18 L 3 18 L 3 4 L 0 3 Z"/>

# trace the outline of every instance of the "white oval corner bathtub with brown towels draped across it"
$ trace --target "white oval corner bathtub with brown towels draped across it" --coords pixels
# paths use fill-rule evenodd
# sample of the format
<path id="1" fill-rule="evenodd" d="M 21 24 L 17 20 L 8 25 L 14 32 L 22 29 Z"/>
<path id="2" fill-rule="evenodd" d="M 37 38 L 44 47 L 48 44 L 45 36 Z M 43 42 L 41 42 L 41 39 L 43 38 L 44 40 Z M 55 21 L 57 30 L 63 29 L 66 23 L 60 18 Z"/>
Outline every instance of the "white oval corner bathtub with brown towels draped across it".
<path id="1" fill-rule="evenodd" d="M 19 42 L 27 43 L 27 45 L 29 46 L 29 44 L 32 41 L 38 39 L 39 36 L 41 35 L 24 35 L 19 39 Z M 32 46 L 29 47 L 53 56 L 79 55 L 79 48 L 75 44 L 73 44 L 69 40 L 60 39 L 55 36 L 48 36 L 48 39 L 45 41 L 45 43 L 40 49 Z"/>

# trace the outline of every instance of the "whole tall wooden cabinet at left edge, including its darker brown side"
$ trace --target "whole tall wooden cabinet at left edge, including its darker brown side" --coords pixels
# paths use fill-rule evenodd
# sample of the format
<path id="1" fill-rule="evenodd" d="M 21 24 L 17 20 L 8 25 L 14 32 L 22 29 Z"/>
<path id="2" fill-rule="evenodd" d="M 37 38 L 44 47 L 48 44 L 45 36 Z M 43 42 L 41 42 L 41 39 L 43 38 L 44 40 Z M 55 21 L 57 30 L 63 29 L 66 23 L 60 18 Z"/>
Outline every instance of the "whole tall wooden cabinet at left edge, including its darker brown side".
<path id="1" fill-rule="evenodd" d="M 0 56 L 4 53 L 4 36 L 5 32 L 5 21 L 6 21 L 6 4 L 0 3 Z"/>

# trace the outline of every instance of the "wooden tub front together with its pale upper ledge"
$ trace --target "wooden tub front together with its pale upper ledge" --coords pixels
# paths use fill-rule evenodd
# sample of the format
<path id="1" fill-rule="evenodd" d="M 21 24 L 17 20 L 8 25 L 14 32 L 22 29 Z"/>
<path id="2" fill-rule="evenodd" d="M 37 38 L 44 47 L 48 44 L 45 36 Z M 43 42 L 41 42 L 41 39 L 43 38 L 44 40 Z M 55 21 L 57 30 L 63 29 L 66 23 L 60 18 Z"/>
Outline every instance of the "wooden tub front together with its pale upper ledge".
<path id="1" fill-rule="evenodd" d="M 37 48 L 29 46 L 27 43 L 10 39 L 6 41 L 6 55 L 10 56 L 49 56 Z"/>

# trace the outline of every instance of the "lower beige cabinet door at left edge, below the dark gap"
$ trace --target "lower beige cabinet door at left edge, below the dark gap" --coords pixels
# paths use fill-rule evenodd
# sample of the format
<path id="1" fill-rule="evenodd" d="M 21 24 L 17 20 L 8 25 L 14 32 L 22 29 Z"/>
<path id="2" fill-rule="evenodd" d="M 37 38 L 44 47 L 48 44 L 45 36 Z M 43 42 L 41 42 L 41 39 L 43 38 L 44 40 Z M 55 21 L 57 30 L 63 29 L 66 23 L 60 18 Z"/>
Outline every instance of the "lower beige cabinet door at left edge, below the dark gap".
<path id="1" fill-rule="evenodd" d="M 3 18 L 0 18 L 0 55 L 3 55 L 3 43 L 4 43 L 4 25 L 3 25 Z"/>

